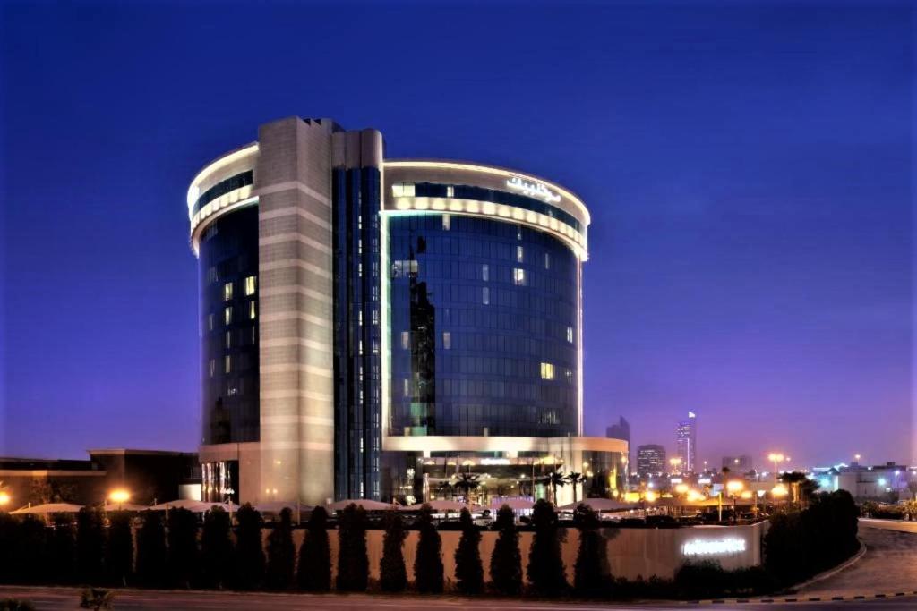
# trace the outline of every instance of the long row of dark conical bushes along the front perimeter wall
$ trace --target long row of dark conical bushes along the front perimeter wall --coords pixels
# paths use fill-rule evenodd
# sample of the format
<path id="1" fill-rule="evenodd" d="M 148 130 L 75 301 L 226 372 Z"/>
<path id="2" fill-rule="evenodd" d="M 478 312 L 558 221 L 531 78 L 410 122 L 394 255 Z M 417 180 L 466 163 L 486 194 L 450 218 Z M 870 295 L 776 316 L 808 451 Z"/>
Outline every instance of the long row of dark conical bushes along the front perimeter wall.
<path id="1" fill-rule="evenodd" d="M 653 578 L 646 582 L 613 578 L 602 522 L 591 507 L 580 505 L 574 512 L 579 547 L 572 583 L 561 555 L 567 529 L 560 527 L 550 503 L 541 500 L 533 508 L 534 537 L 525 567 L 510 507 L 504 506 L 496 514 L 492 529 L 497 531 L 497 538 L 489 559 L 481 558 L 481 529 L 463 509 L 458 520 L 461 535 L 454 551 L 455 574 L 448 579 L 463 595 L 693 598 L 699 594 L 763 594 L 778 585 L 796 583 L 794 579 L 801 581 L 807 576 L 802 566 L 827 568 L 856 551 L 856 515 L 852 524 L 849 515 L 850 507 L 856 512 L 856 506 L 844 494 L 816 496 L 807 509 L 772 518 L 764 541 L 764 567 L 728 572 L 715 563 L 688 564 L 674 580 Z M 109 511 L 105 516 L 101 509 L 84 507 L 75 520 L 69 515 L 54 516 L 53 528 L 49 529 L 34 516 L 19 520 L 0 513 L 0 550 L 9 551 L 0 554 L 0 583 L 303 592 L 378 588 L 400 593 L 411 586 L 410 569 L 413 588 L 420 594 L 442 593 L 447 585 L 442 540 L 428 506 L 414 521 L 419 536 L 412 567 L 405 565 L 403 557 L 407 525 L 402 515 L 396 511 L 385 514 L 378 584 L 370 584 L 370 520 L 356 505 L 338 516 L 334 579 L 328 515 L 323 507 L 312 512 L 298 551 L 289 509 L 282 511 L 265 544 L 260 513 L 248 505 L 238 509 L 235 527 L 220 507 L 204 515 L 203 525 L 187 509 L 171 509 L 167 517 L 161 512 L 143 512 L 138 519 L 136 550 L 132 519 L 127 512 Z M 490 568 L 491 581 L 486 584 L 483 562 L 489 562 Z"/>

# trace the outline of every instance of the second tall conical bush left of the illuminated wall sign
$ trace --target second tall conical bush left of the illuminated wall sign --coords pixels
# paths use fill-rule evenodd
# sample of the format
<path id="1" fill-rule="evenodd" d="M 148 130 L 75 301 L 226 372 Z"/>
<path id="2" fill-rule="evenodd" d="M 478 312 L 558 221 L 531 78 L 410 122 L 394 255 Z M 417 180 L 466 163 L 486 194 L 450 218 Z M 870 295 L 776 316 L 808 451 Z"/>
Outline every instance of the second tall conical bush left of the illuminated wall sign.
<path id="1" fill-rule="evenodd" d="M 532 591 L 542 596 L 564 594 L 568 584 L 560 555 L 560 543 L 565 533 L 558 529 L 554 506 L 545 499 L 537 501 L 532 508 L 532 527 L 535 537 L 532 539 L 526 568 Z"/>

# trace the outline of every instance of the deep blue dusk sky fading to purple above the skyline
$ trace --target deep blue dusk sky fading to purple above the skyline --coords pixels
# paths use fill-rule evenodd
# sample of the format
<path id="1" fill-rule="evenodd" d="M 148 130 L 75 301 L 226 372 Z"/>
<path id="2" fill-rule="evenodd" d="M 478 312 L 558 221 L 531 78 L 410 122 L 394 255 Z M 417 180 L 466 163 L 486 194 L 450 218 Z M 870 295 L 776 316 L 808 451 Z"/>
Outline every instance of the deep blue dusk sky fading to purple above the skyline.
<path id="1" fill-rule="evenodd" d="M 194 174 L 289 115 L 592 213 L 585 426 L 911 460 L 906 2 L 0 5 L 0 454 L 193 450 Z"/>

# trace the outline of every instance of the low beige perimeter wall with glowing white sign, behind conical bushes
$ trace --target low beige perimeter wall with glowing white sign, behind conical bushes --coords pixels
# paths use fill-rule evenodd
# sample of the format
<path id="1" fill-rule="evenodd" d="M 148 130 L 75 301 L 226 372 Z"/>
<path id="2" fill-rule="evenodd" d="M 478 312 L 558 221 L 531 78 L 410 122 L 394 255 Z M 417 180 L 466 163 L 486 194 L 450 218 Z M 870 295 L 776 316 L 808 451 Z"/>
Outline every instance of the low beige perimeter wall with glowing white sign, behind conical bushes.
<path id="1" fill-rule="evenodd" d="M 700 562 L 715 560 L 724 569 L 739 569 L 761 563 L 761 538 L 767 531 L 768 522 L 750 526 L 700 526 L 683 529 L 602 529 L 608 550 L 609 568 L 614 577 L 635 580 L 648 579 L 656 575 L 671 579 L 686 561 Z M 564 529 L 561 529 L 563 531 Z M 270 529 L 264 529 L 265 538 Z M 382 557 L 382 530 L 368 530 L 367 552 L 370 556 L 370 578 L 379 579 L 379 562 Z M 414 551 L 417 548 L 419 532 L 410 530 L 404 540 L 404 562 L 409 579 L 414 577 Z M 296 549 L 299 550 L 305 535 L 304 529 L 293 532 Z M 498 533 L 481 532 L 481 562 L 484 565 L 484 580 L 490 580 L 491 553 Z M 443 565 L 446 578 L 454 580 L 455 550 L 461 532 L 441 531 L 443 540 Z M 519 533 L 519 551 L 522 552 L 522 567 L 528 564 L 528 551 L 534 533 Z M 337 530 L 328 530 L 331 546 L 332 574 L 337 570 Z M 567 577 L 573 583 L 573 566 L 579 549 L 579 531 L 566 529 L 566 540 L 561 546 Z"/>

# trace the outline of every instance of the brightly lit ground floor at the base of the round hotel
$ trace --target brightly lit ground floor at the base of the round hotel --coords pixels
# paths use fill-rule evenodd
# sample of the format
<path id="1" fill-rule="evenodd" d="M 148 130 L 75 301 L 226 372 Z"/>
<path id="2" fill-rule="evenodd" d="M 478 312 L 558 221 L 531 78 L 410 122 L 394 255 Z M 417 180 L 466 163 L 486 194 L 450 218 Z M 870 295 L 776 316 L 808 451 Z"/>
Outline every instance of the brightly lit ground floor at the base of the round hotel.
<path id="1" fill-rule="evenodd" d="M 317 500 L 314 491 L 299 499 L 279 497 L 276 488 L 263 484 L 262 453 L 258 442 L 202 446 L 203 500 L 315 505 L 343 497 L 333 489 Z M 303 460 L 308 463 L 307 454 Z M 413 505 L 456 499 L 490 507 L 504 500 L 547 498 L 566 505 L 620 494 L 626 461 L 627 442 L 601 437 L 391 436 L 382 440 L 375 500 Z M 297 466 L 291 473 L 312 477 L 316 468 L 326 467 Z"/>

